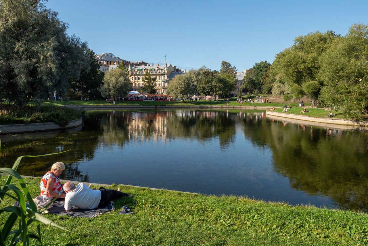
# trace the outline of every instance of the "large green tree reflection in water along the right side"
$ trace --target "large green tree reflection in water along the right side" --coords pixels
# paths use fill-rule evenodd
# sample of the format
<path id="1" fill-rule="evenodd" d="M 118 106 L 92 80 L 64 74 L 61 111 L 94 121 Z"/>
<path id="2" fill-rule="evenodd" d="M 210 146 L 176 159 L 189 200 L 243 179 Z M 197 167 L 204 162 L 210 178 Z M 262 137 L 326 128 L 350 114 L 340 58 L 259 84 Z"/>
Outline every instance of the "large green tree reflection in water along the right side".
<path id="1" fill-rule="evenodd" d="M 368 209 L 367 134 L 283 122 L 245 122 L 244 134 L 267 143 L 274 168 L 295 190 L 332 197 L 347 209 Z"/>

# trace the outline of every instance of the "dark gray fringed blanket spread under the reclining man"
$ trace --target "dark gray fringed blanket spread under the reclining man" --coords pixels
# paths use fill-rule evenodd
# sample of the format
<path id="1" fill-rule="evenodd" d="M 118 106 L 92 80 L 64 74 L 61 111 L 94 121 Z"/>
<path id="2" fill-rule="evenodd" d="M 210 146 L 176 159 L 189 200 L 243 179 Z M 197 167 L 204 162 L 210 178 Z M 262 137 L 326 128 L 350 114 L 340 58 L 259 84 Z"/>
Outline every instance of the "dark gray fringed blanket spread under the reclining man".
<path id="1" fill-rule="evenodd" d="M 26 204 L 28 204 L 28 202 L 26 202 Z M 19 207 L 19 202 L 15 202 L 14 206 Z M 114 207 L 112 205 L 112 202 L 107 204 L 105 208 L 80 209 L 72 206 L 72 211 L 67 213 L 64 209 L 64 201 L 54 201 L 52 207 L 47 209 L 47 211 L 49 211 L 50 214 L 56 215 L 69 215 L 72 217 L 93 218 L 95 216 L 114 211 Z"/>

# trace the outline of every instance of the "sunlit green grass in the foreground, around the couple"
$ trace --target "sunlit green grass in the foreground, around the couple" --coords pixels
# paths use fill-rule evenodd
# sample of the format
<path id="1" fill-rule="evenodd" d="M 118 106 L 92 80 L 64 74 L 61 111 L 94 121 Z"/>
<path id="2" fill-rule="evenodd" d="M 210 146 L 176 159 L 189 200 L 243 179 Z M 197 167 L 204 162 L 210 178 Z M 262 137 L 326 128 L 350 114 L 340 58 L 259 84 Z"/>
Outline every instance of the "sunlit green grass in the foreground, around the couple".
<path id="1" fill-rule="evenodd" d="M 4 177 L 1 177 L 4 183 Z M 40 179 L 25 179 L 32 197 Z M 216 197 L 120 186 L 133 198 L 93 219 L 46 215 L 73 231 L 42 225 L 47 245 L 366 245 L 368 215 L 291 207 L 241 197 Z M 117 188 L 117 186 L 113 186 Z M 8 205 L 12 205 L 8 199 Z M 118 214 L 129 205 L 133 215 Z M 4 224 L 4 213 L 0 224 Z M 35 227 L 31 231 L 35 232 Z M 32 239 L 33 240 L 33 239 Z"/>

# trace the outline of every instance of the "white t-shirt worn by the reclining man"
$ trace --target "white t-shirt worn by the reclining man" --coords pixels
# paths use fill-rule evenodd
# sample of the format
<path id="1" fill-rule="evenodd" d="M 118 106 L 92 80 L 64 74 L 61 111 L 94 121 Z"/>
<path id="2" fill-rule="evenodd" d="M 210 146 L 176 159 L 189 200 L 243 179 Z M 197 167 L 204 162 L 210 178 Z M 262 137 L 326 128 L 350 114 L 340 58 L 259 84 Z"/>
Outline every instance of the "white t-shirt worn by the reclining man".
<path id="1" fill-rule="evenodd" d="M 101 191 L 92 190 L 84 183 L 79 183 L 74 190 L 65 195 L 65 210 L 70 210 L 71 206 L 82 209 L 97 208 L 101 200 Z"/>

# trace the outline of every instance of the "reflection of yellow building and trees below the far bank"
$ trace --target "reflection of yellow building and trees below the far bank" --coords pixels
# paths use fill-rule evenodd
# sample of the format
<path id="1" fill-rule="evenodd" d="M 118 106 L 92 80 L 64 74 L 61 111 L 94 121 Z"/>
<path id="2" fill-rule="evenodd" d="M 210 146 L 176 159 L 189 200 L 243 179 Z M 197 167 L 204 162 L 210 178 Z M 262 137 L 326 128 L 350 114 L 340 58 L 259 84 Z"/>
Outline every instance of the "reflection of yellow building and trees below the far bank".
<path id="1" fill-rule="evenodd" d="M 232 115 L 232 114 L 231 114 Z M 109 111 L 101 115 L 102 142 L 123 146 L 129 140 L 219 137 L 222 148 L 235 137 L 235 122 L 225 111 Z"/>

